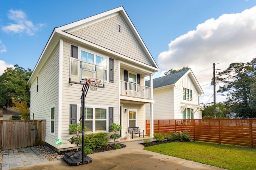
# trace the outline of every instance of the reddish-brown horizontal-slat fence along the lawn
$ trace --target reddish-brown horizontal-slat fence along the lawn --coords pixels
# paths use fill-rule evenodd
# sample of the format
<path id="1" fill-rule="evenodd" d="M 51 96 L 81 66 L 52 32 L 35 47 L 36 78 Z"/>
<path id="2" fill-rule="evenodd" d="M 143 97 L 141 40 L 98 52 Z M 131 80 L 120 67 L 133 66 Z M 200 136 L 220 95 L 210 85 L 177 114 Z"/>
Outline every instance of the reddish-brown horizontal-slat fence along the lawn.
<path id="1" fill-rule="evenodd" d="M 256 147 L 256 119 L 154 120 L 154 133 L 177 131 L 187 131 L 194 141 Z"/>

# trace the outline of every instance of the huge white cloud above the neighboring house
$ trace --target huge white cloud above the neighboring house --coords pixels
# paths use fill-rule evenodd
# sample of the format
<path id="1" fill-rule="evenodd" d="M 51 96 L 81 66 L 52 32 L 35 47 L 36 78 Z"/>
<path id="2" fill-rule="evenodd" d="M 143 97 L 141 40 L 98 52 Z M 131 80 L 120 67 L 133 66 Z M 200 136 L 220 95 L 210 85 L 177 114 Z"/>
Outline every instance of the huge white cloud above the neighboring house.
<path id="1" fill-rule="evenodd" d="M 220 63 L 216 69 L 225 70 L 231 63 L 246 63 L 253 59 L 256 55 L 255 40 L 256 6 L 199 24 L 196 30 L 171 41 L 168 51 L 158 56 L 158 64 L 163 70 L 188 66 L 202 86 L 212 79 L 213 63 Z"/>

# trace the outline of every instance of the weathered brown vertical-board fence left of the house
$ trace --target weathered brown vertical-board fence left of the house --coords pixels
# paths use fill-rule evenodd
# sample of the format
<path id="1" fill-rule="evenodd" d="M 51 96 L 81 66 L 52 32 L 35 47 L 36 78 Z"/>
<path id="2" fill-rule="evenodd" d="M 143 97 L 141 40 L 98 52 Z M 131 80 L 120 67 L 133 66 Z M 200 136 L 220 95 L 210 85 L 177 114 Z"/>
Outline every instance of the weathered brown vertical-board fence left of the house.
<path id="1" fill-rule="evenodd" d="M 0 120 L 0 149 L 44 144 L 45 123 L 46 120 Z"/>

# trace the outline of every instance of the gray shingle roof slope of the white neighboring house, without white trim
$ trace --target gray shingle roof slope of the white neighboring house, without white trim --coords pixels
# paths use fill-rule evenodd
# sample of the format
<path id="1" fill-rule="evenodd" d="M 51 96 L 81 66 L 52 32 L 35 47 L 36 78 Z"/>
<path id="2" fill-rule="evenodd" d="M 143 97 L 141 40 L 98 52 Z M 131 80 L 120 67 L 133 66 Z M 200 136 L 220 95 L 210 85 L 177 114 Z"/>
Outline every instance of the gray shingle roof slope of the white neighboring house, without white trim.
<path id="1" fill-rule="evenodd" d="M 186 72 L 188 72 L 188 70 L 190 69 L 153 79 L 153 88 L 168 86 L 176 83 L 184 74 L 186 74 Z M 149 87 L 149 80 L 145 82 L 145 85 Z"/>

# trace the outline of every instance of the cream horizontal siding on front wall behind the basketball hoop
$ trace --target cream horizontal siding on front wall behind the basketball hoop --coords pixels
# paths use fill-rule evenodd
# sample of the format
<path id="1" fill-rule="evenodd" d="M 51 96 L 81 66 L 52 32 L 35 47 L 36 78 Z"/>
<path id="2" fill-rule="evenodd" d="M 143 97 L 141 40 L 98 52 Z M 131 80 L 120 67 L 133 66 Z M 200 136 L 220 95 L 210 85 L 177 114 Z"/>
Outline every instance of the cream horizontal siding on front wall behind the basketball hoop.
<path id="1" fill-rule="evenodd" d="M 69 83 L 71 45 L 75 44 L 64 41 L 62 75 L 62 143 L 66 143 L 66 145 L 68 145 L 67 140 L 71 137 L 68 130 L 68 125 L 70 124 L 70 104 L 80 104 L 82 95 L 81 84 L 71 85 Z M 99 53 L 99 51 L 96 52 Z M 112 58 L 111 56 L 108 57 Z M 90 105 L 114 107 L 114 122 L 118 123 L 118 60 L 114 59 L 114 83 L 105 82 L 105 88 L 98 88 L 97 91 L 91 91 L 89 89 L 85 102 Z"/>

